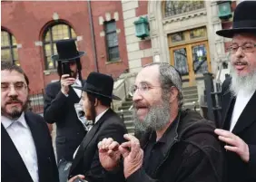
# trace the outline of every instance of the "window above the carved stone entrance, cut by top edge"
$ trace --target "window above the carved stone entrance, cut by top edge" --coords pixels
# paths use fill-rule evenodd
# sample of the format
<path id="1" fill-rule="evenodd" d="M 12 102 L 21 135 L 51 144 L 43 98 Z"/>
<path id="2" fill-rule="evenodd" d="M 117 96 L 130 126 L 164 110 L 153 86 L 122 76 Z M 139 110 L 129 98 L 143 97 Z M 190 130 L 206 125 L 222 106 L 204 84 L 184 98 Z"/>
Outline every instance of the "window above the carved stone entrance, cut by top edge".
<path id="1" fill-rule="evenodd" d="M 183 14 L 204 8 L 204 1 L 164 1 L 164 17 Z"/>

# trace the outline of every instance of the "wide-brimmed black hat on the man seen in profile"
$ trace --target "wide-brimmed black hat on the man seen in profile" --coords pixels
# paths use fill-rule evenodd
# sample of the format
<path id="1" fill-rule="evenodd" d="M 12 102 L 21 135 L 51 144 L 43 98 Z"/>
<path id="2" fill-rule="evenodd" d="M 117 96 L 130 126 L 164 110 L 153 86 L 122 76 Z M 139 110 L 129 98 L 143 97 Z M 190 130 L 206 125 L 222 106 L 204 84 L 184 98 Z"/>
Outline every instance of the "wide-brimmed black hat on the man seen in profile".
<path id="1" fill-rule="evenodd" d="M 88 91 L 111 100 L 121 101 L 119 97 L 113 95 L 113 78 L 100 72 L 91 72 L 83 87 L 74 86 L 74 88 Z"/>

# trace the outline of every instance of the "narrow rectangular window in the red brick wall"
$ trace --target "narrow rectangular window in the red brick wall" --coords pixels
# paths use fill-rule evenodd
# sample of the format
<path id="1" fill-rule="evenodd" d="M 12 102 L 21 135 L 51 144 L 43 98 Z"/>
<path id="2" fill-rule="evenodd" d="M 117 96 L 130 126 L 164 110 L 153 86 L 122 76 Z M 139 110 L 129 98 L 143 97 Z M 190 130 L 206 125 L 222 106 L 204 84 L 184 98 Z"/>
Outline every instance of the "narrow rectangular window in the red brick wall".
<path id="1" fill-rule="evenodd" d="M 108 54 L 108 61 L 118 61 L 120 59 L 118 39 L 116 34 L 115 21 L 109 21 L 104 23 L 105 39 Z"/>

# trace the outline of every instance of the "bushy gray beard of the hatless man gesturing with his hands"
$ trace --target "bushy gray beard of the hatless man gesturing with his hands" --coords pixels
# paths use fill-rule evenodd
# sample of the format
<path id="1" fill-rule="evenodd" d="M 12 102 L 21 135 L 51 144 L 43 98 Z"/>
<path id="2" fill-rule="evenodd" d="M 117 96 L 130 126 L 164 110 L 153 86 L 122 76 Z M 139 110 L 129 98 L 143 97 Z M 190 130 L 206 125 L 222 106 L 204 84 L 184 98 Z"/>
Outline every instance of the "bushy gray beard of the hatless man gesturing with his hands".
<path id="1" fill-rule="evenodd" d="M 151 107 L 144 120 L 139 120 L 137 110 L 133 110 L 135 131 L 139 132 L 146 132 L 150 129 L 162 130 L 169 123 L 170 118 L 169 99 L 162 100 L 161 105 Z"/>

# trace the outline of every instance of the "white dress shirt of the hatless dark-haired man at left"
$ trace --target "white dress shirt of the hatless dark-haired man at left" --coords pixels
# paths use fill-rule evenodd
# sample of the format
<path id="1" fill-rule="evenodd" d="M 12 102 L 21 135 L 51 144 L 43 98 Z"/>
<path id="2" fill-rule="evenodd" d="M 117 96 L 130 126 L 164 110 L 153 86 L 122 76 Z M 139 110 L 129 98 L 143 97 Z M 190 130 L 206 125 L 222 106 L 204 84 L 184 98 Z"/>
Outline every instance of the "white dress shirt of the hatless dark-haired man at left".
<path id="1" fill-rule="evenodd" d="M 10 120 L 5 116 L 1 116 L 1 122 L 10 138 L 13 140 L 15 148 L 18 150 L 21 158 L 23 159 L 25 167 L 27 168 L 33 181 L 38 182 L 38 164 L 34 139 L 29 127 L 26 124 L 24 112 L 18 120 Z"/>

